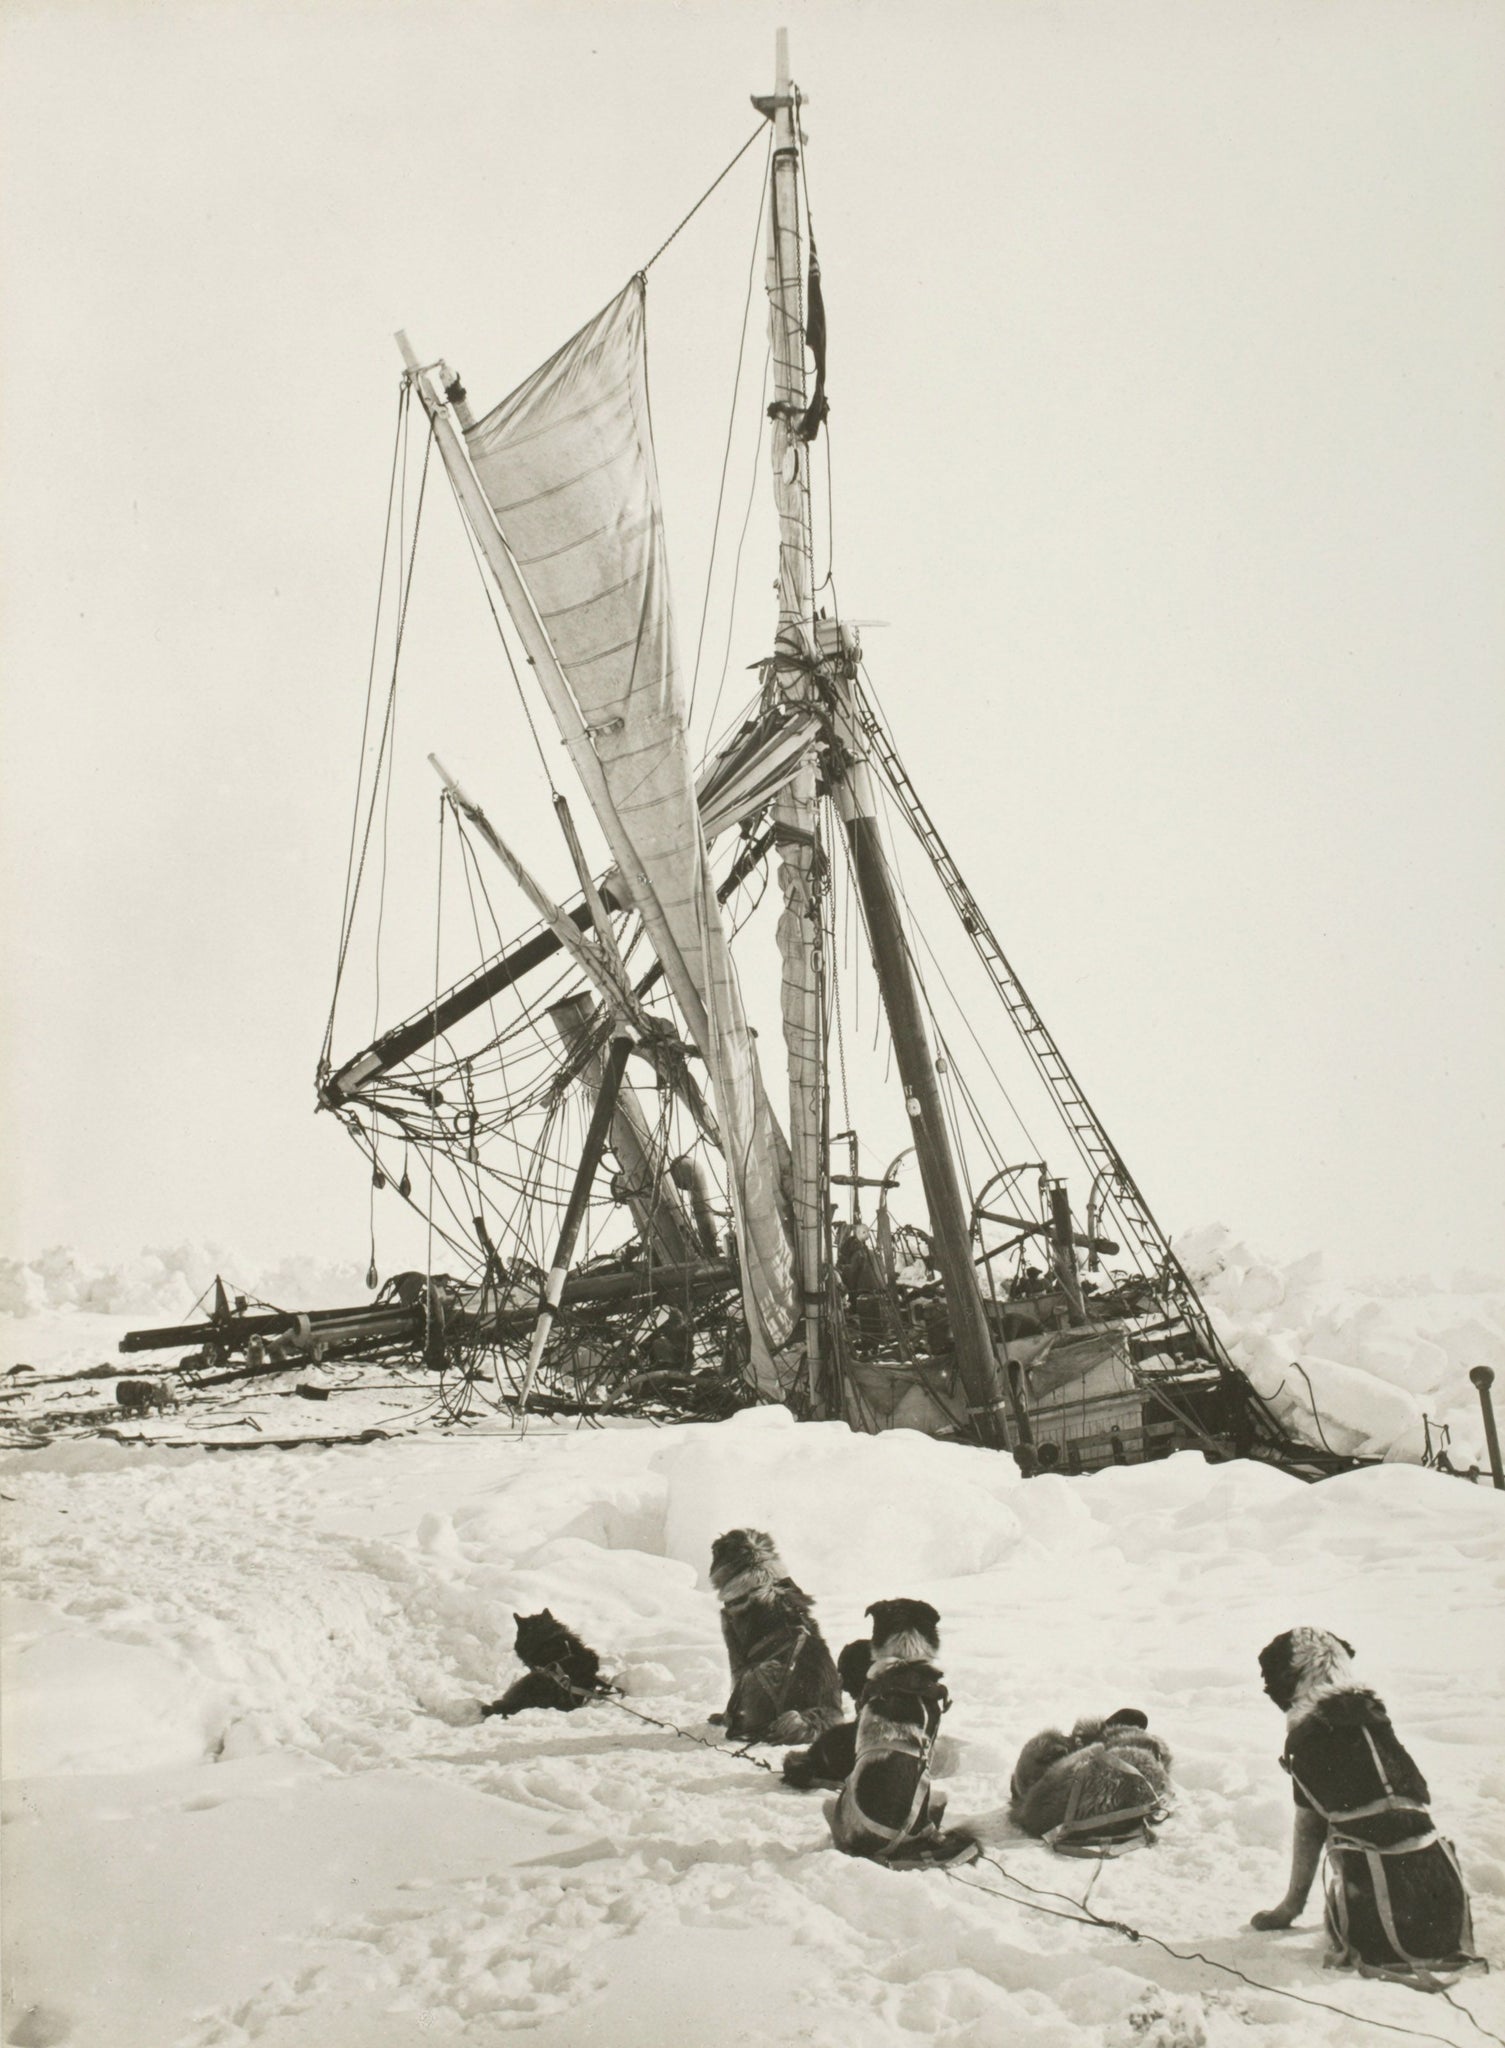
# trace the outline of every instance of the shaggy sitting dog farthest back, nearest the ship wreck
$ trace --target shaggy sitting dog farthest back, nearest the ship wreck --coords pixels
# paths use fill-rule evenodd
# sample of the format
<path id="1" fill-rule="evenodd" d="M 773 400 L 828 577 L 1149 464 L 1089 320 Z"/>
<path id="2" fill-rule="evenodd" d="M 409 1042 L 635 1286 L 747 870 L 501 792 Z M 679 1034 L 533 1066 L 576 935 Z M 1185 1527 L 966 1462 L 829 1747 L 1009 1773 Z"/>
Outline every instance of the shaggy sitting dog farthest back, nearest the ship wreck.
<path id="1" fill-rule="evenodd" d="M 809 1743 L 842 1718 L 842 1683 L 807 1593 L 774 1538 L 727 1530 L 711 1544 L 711 1583 L 731 1665 L 725 1724 L 739 1743 Z"/>

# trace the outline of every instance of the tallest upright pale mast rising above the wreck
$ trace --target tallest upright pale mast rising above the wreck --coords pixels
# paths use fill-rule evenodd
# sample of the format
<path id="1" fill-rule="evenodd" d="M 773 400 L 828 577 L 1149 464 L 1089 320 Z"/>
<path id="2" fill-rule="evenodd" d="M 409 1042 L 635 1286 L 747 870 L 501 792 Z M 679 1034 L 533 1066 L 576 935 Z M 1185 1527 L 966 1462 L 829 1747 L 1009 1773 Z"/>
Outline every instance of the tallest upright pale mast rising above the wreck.
<path id="1" fill-rule="evenodd" d="M 768 170 L 768 344 L 774 369 L 770 455 L 778 510 L 778 633 L 774 684 L 788 702 L 811 698 L 811 502 L 809 446 L 797 426 L 805 414 L 805 274 L 799 217 L 799 94 L 788 76 L 788 31 L 776 37 L 774 96 L 754 106 L 774 123 Z M 825 1270 L 829 1225 L 825 1219 L 825 1034 L 819 971 L 819 920 L 815 834 L 819 805 L 815 766 L 803 762 L 774 801 L 778 836 L 778 920 L 782 954 L 782 1012 L 788 1049 L 788 1147 L 794 1239 L 805 1319 L 805 1372 L 819 1413 L 823 1384 Z"/>

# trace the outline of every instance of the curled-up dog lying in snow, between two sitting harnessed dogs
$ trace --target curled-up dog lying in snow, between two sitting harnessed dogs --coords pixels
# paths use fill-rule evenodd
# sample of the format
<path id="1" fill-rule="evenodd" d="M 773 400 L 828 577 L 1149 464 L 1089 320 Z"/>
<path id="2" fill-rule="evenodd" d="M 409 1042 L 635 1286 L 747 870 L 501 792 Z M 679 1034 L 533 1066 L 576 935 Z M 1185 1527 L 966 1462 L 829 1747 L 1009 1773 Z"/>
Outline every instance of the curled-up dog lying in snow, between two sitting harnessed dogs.
<path id="1" fill-rule="evenodd" d="M 1149 1839 L 1171 1784 L 1171 1751 L 1136 1706 L 1044 1729 L 1020 1751 L 1009 1819 L 1063 1855 L 1112 1855 Z"/>

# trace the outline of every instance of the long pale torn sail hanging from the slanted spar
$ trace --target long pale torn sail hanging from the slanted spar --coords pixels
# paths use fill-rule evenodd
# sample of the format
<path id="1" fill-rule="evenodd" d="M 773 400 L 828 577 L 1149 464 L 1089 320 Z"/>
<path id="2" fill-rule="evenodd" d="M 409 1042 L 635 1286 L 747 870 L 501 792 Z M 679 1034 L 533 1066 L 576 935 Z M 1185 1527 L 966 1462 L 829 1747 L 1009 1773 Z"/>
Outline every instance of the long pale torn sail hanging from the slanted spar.
<path id="1" fill-rule="evenodd" d="M 717 1100 L 741 1249 L 754 1372 L 799 1319 L 784 1194 L 788 1153 L 768 1106 L 721 924 L 676 676 L 670 575 L 647 403 L 643 281 L 465 434 L 498 526 L 569 682 L 631 846 L 629 885 L 661 911 L 663 971 Z"/>

